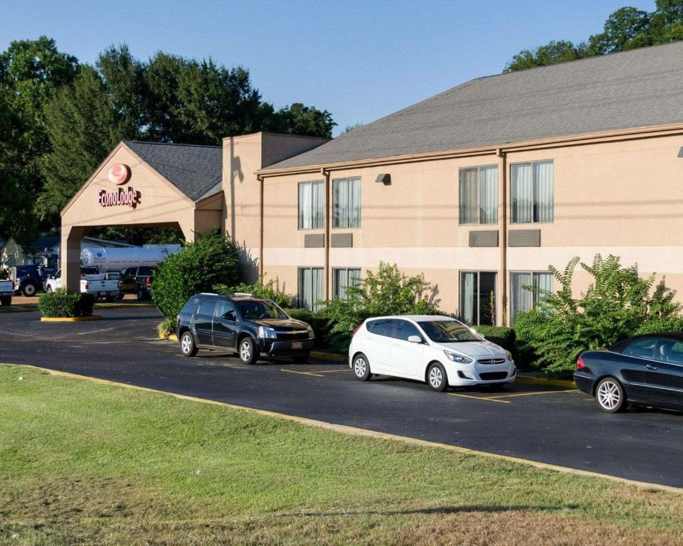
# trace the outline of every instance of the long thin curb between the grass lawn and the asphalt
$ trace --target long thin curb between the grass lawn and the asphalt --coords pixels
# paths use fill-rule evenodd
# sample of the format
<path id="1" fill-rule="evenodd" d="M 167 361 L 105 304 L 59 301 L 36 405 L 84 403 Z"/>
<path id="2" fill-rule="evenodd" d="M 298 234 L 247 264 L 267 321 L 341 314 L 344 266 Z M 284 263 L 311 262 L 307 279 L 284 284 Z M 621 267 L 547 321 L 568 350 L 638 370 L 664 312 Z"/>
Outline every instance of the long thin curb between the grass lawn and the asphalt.
<path id="1" fill-rule="evenodd" d="M 5 364 L 5 363 L 3 363 L 3 364 Z M 18 365 L 18 364 L 9 364 L 9 365 L 19 366 L 19 367 L 22 366 L 22 365 Z M 379 431 L 375 431 L 375 430 L 371 430 L 371 429 L 363 429 L 360 427 L 353 427 L 351 425 L 346 425 L 346 424 L 335 424 L 335 423 L 329 423 L 326 421 L 319 421 L 317 419 L 309 419 L 308 417 L 299 417 L 297 415 L 290 415 L 290 414 L 286 414 L 286 413 L 271 412 L 269 410 L 259 410 L 259 409 L 254 408 L 254 407 L 240 406 L 240 405 L 236 405 L 236 404 L 231 404 L 229 402 L 219 402 L 218 400 L 211 400 L 208 398 L 200 398 L 200 397 L 189 396 L 189 395 L 181 395 L 177 392 L 168 392 L 168 391 L 164 391 L 164 390 L 152 389 L 149 387 L 140 387 L 139 385 L 131 385 L 130 383 L 122 383 L 122 382 L 117 382 L 117 381 L 112 381 L 112 380 L 107 380 L 107 379 L 94 378 L 92 376 L 80 375 L 77 373 L 62 372 L 59 370 L 52 370 L 51 368 L 41 368 L 40 366 L 34 366 L 31 364 L 24 364 L 23 366 L 25 366 L 26 368 L 33 368 L 34 370 L 41 370 L 43 372 L 49 373 L 50 375 L 57 375 L 57 376 L 61 376 L 64 378 L 73 378 L 73 379 L 78 379 L 78 380 L 85 380 L 85 381 L 90 381 L 93 383 L 98 383 L 100 385 L 115 385 L 117 387 L 125 387 L 127 389 L 134 389 L 134 390 L 142 390 L 145 392 L 155 392 L 155 393 L 160 394 L 160 395 L 167 395 L 167 396 L 179 398 L 180 400 L 189 400 L 190 402 L 200 402 L 201 404 L 210 404 L 210 405 L 216 405 L 216 406 L 222 406 L 222 407 L 229 407 L 233 410 L 252 412 L 252 413 L 256 413 L 256 414 L 260 414 L 260 415 L 265 415 L 266 417 L 275 417 L 275 419 L 285 419 L 287 421 L 293 421 L 293 422 L 297 422 L 300 424 L 304 424 L 307 427 L 314 427 L 314 428 L 323 429 L 323 430 L 331 430 L 333 432 L 339 432 L 342 434 L 350 434 L 352 436 L 371 437 L 371 438 L 382 439 L 382 440 L 400 441 L 403 444 L 409 444 L 409 445 L 415 445 L 415 446 L 437 447 L 437 448 L 441 448 L 441 449 L 446 449 L 448 451 L 452 451 L 452 452 L 457 453 L 457 454 L 484 456 L 484 457 L 488 457 L 490 459 L 498 459 L 500 461 L 509 461 L 512 463 L 524 464 L 527 466 L 533 466 L 536 469 L 543 469 L 543 470 L 550 470 L 550 471 L 574 474 L 576 476 L 588 476 L 591 478 L 603 478 L 603 479 L 607 479 L 607 480 L 610 480 L 610 481 L 613 481 L 616 483 L 623 483 L 626 485 L 635 486 L 637 488 L 645 488 L 645 489 L 650 489 L 650 490 L 655 489 L 657 491 L 667 491 L 669 493 L 675 493 L 678 495 L 683 494 L 683 488 L 679 488 L 679 487 L 675 487 L 675 486 L 665 486 L 661 483 L 649 483 L 649 482 L 645 482 L 645 481 L 636 481 L 636 480 L 631 480 L 629 478 L 621 478 L 620 476 L 612 476 L 610 474 L 603 474 L 603 473 L 599 473 L 599 472 L 593 472 L 593 471 L 581 470 L 581 469 L 572 469 L 571 467 L 568 467 L 568 466 L 558 466 L 556 464 L 542 463 L 541 461 L 534 461 L 533 459 L 521 459 L 519 457 L 513 457 L 513 456 L 509 456 L 509 455 L 492 453 L 491 451 L 479 451 L 477 449 L 470 449 L 470 448 L 462 447 L 462 446 L 454 446 L 452 444 L 441 444 L 441 443 L 436 442 L 436 441 L 429 441 L 429 440 L 423 440 L 423 439 L 418 439 L 418 438 L 400 436 L 398 434 L 389 434 L 387 432 L 379 432 Z"/>

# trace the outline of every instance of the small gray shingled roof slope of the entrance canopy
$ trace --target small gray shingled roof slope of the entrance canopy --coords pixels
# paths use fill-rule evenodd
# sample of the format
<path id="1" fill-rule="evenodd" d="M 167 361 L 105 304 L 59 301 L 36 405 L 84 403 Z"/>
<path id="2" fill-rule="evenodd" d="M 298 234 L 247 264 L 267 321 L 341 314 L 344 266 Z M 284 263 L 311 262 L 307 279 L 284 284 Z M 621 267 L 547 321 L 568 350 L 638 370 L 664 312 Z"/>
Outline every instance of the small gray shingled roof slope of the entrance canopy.
<path id="1" fill-rule="evenodd" d="M 223 177 L 221 146 L 125 141 L 145 163 L 193 201 L 218 191 Z"/>

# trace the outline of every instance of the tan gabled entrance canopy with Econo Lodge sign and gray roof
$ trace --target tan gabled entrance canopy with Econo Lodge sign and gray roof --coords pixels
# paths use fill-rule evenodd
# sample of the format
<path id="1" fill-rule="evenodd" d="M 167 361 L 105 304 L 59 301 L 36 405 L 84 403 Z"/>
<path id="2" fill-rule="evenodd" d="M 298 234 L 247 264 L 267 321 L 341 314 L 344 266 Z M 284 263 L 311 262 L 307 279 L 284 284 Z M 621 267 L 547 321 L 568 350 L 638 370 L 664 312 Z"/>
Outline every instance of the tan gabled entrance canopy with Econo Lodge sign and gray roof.
<path id="1" fill-rule="evenodd" d="M 186 240 L 223 225 L 222 150 L 121 142 L 62 210 L 62 272 L 80 289 L 80 240 L 90 228 L 179 227 Z"/>

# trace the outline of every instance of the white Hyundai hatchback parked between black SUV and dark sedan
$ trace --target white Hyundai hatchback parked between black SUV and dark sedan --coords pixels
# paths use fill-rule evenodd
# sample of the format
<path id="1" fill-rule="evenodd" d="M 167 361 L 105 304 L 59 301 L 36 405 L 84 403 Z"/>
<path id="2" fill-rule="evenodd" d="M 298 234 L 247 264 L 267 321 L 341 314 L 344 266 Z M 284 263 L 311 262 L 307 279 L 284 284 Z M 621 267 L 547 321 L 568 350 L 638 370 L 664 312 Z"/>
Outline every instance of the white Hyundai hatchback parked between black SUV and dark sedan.
<path id="1" fill-rule="evenodd" d="M 433 390 L 511 383 L 509 351 L 448 316 L 378 316 L 356 328 L 349 366 L 366 381 L 373 374 L 427 382 Z"/>

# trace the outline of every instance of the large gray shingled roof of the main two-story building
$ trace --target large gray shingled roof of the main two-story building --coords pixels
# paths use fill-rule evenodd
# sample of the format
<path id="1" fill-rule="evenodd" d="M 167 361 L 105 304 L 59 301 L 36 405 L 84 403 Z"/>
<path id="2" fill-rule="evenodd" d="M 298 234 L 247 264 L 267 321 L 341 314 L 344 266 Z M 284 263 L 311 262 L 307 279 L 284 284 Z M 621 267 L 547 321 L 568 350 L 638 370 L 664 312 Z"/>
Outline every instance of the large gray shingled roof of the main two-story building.
<path id="1" fill-rule="evenodd" d="M 678 122 L 683 42 L 470 80 L 268 169 Z"/>

